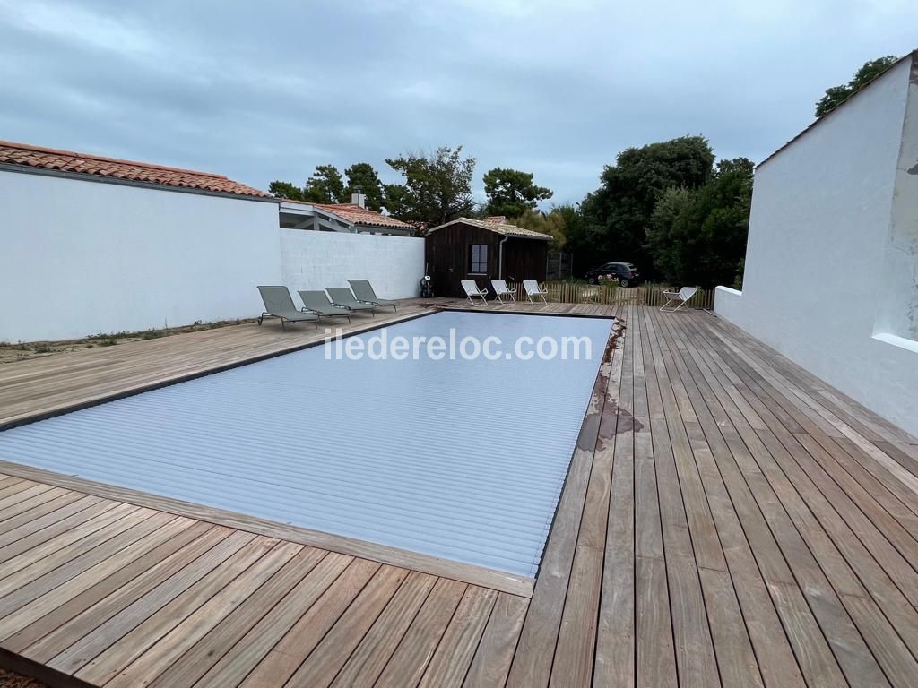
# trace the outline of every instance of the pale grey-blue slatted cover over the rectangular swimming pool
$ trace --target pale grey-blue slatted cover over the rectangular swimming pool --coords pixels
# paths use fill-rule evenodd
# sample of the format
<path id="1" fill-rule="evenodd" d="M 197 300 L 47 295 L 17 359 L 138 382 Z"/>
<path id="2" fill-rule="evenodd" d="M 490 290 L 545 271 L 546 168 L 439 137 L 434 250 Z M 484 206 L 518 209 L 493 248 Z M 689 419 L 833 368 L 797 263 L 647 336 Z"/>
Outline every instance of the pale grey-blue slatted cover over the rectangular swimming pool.
<path id="1" fill-rule="evenodd" d="M 0 432 L 0 458 L 534 575 L 611 322 L 438 313 L 386 336 L 453 327 L 511 352 L 576 336 L 592 356 L 339 361 L 323 345 Z"/>

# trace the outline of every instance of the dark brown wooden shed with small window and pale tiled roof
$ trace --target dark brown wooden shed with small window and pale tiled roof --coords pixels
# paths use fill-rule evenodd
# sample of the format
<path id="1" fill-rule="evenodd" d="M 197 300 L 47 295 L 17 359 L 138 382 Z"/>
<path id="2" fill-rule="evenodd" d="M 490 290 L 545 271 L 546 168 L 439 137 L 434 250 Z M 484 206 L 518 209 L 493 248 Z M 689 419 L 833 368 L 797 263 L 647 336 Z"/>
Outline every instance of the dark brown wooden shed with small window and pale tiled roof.
<path id="1" fill-rule="evenodd" d="M 475 280 L 492 293 L 492 279 L 543 282 L 551 240 L 547 234 L 509 225 L 503 217 L 460 217 L 433 227 L 425 239 L 433 291 L 465 297 L 461 280 Z"/>

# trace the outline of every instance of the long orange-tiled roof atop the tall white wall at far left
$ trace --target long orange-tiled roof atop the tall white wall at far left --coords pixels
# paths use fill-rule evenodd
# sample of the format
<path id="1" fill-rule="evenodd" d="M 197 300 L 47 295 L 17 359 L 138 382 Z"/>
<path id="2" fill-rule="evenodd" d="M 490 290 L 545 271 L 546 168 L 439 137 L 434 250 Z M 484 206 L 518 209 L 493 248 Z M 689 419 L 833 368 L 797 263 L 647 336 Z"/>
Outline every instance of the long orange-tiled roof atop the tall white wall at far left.
<path id="1" fill-rule="evenodd" d="M 99 155 L 74 153 L 71 150 L 39 148 L 2 140 L 0 140 L 0 164 L 73 172 L 94 177 L 120 179 L 126 182 L 150 183 L 217 194 L 271 197 L 270 194 L 245 184 L 233 182 L 220 174 L 152 165 L 149 162 L 104 158 Z"/>

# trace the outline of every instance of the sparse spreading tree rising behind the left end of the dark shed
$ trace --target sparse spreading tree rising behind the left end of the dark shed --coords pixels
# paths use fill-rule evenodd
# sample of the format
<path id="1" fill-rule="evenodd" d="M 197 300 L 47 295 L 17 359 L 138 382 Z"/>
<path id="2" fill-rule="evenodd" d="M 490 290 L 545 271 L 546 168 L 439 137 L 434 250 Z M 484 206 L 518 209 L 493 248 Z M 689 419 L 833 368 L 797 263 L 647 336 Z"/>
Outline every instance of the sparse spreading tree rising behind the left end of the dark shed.
<path id="1" fill-rule="evenodd" d="M 386 158 L 389 167 L 404 175 L 405 183 L 386 184 L 383 205 L 390 215 L 419 229 L 468 215 L 475 207 L 475 162 L 475 158 L 462 156 L 462 146 L 443 146 L 429 155 Z"/>

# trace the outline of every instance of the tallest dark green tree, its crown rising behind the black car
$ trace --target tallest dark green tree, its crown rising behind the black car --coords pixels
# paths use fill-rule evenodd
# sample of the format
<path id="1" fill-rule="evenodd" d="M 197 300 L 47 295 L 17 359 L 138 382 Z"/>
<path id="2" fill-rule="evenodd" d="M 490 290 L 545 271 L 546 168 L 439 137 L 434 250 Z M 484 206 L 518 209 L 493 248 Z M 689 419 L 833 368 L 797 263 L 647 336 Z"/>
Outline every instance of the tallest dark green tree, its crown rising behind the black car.
<path id="1" fill-rule="evenodd" d="M 654 272 L 646 231 L 666 189 L 700 187 L 711 177 L 714 153 L 707 139 L 684 136 L 622 150 L 600 176 L 601 186 L 580 205 L 585 225 L 573 246 L 577 272 L 594 262 L 629 261 L 647 276 Z"/>

